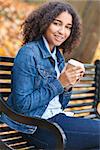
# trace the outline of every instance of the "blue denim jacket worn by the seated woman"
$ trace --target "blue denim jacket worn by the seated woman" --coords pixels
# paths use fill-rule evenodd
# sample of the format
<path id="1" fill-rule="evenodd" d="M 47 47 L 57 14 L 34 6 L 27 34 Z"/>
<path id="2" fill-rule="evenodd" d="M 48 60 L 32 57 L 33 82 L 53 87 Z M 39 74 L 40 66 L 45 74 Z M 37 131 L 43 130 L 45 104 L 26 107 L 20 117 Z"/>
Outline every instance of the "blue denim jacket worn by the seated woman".
<path id="1" fill-rule="evenodd" d="M 61 72 L 65 65 L 64 58 L 58 49 L 56 55 Z M 42 38 L 24 45 L 14 60 L 12 91 L 7 100 L 10 108 L 25 116 L 41 117 L 49 102 L 59 95 L 62 109 L 65 109 L 71 92 L 64 91 L 54 65 Z M 4 114 L 0 119 L 16 130 L 34 132 L 34 127 L 17 123 Z"/>

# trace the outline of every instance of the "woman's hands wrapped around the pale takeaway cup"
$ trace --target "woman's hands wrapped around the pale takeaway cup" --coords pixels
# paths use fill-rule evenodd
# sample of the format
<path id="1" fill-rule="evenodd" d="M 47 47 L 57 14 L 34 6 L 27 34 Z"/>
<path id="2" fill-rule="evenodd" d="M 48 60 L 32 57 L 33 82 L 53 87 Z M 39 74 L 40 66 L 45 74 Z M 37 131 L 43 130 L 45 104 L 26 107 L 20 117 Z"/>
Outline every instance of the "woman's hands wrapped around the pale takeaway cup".
<path id="1" fill-rule="evenodd" d="M 73 87 L 77 81 L 84 75 L 85 69 L 79 66 L 68 65 L 65 66 L 60 74 L 59 80 L 62 86 L 65 88 Z"/>

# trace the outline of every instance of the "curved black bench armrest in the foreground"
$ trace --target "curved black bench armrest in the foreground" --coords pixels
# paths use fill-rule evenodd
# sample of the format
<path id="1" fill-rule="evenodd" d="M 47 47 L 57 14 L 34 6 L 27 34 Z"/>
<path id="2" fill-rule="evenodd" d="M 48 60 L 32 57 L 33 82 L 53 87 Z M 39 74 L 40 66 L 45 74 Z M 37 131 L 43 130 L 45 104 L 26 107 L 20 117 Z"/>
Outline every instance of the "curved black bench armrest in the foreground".
<path id="1" fill-rule="evenodd" d="M 61 129 L 61 127 L 59 127 L 58 124 L 50 123 L 49 121 L 38 117 L 27 117 L 18 114 L 15 111 L 11 110 L 10 107 L 6 104 L 5 100 L 1 97 L 0 97 L 0 113 L 6 114 L 9 118 L 11 118 L 16 122 L 50 130 L 50 132 L 52 132 L 55 135 L 57 140 L 56 149 L 62 150 L 64 149 L 66 137 L 63 130 Z"/>

